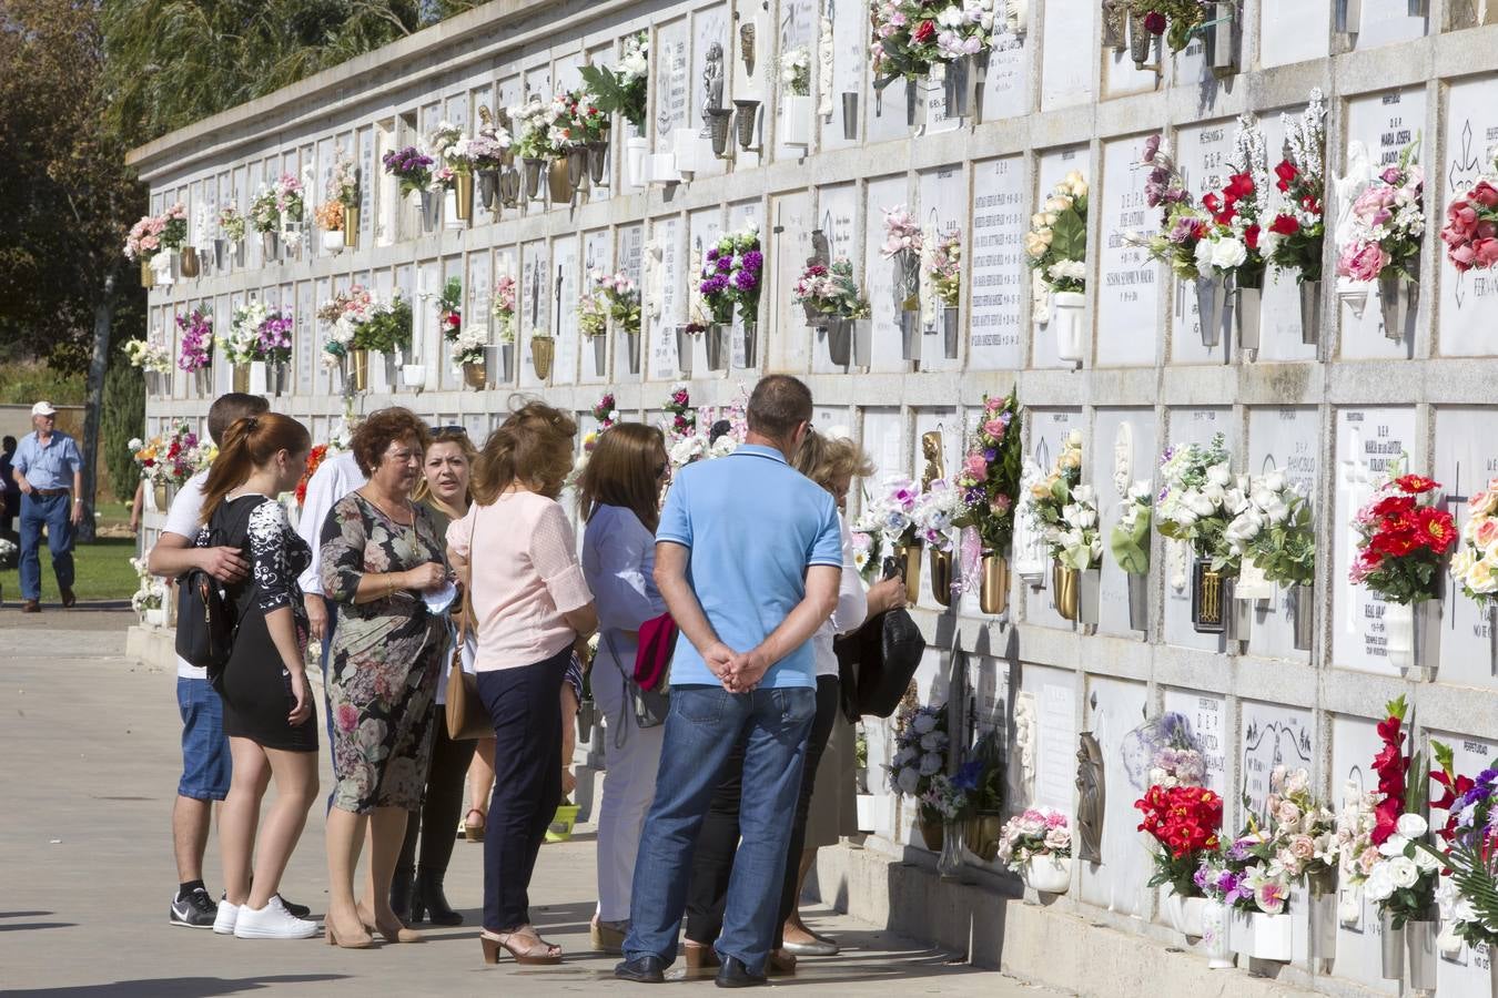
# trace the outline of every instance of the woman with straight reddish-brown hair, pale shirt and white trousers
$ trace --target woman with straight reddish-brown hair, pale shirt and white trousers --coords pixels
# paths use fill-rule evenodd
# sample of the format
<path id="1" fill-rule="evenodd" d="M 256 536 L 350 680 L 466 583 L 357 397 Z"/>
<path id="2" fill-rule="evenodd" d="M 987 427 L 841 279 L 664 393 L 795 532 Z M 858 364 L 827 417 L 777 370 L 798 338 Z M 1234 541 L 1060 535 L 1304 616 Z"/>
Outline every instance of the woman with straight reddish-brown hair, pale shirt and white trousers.
<path id="1" fill-rule="evenodd" d="M 593 699 L 604 717 L 604 800 L 598 811 L 598 911 L 593 949 L 620 953 L 629 932 L 629 887 L 646 811 L 655 799 L 665 729 L 640 727 L 625 676 L 634 676 L 640 625 L 665 613 L 656 591 L 655 530 L 670 464 L 665 437 L 644 423 L 604 431 L 578 479 L 583 575 L 598 606 Z"/>

